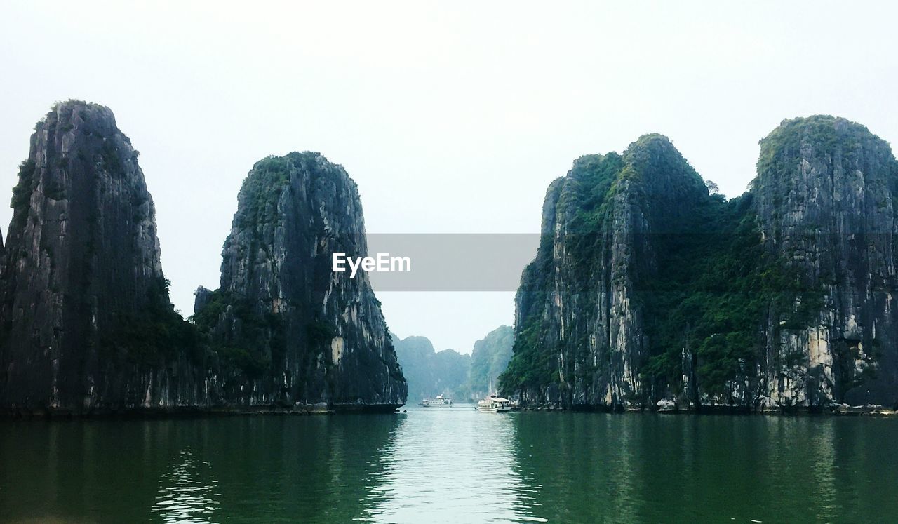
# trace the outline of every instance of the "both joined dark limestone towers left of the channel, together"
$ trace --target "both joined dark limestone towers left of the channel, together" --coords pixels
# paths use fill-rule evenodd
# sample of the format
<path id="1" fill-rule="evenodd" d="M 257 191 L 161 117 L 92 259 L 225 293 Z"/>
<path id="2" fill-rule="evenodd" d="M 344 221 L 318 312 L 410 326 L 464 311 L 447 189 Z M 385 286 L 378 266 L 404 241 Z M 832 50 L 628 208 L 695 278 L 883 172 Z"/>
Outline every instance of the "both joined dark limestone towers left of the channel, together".
<path id="1" fill-rule="evenodd" d="M 0 413 L 95 414 L 405 400 L 365 275 L 355 184 L 316 153 L 259 162 L 225 244 L 222 289 L 175 313 L 154 205 L 110 109 L 57 104 L 31 137 L 0 267 Z M 342 276 L 347 275 L 347 276 Z"/>

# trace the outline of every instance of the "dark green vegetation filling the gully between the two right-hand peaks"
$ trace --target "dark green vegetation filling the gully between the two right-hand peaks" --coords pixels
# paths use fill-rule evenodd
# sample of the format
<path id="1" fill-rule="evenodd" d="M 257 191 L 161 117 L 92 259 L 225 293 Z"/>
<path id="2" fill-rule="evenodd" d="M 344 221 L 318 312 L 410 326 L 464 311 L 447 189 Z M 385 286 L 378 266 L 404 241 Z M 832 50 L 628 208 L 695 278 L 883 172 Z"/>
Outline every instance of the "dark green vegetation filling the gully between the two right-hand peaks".
<path id="1" fill-rule="evenodd" d="M 782 312 L 778 327 L 800 329 L 822 306 L 819 289 L 765 251 L 752 200 L 711 196 L 691 218 L 694 232 L 659 239 L 659 271 L 640 283 L 644 373 L 657 384 L 679 382 L 688 350 L 702 389 L 724 393 L 727 381 L 754 375 L 765 310 Z"/>

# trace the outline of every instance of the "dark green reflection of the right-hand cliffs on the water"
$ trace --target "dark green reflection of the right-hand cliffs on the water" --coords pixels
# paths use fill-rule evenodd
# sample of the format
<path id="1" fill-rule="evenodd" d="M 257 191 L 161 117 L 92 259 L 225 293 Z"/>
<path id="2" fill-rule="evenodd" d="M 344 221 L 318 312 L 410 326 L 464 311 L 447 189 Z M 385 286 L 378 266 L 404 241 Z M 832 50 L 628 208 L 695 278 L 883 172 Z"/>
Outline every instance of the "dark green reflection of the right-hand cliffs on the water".
<path id="1" fill-rule="evenodd" d="M 898 521 L 898 420 L 519 414 L 518 467 L 557 522 Z"/>

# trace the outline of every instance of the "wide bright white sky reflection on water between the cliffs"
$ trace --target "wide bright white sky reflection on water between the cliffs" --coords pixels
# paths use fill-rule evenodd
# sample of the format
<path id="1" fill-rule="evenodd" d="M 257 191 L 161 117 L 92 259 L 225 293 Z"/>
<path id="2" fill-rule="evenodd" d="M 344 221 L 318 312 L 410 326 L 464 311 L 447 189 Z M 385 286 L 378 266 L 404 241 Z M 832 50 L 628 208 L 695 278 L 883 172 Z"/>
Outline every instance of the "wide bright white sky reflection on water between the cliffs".
<path id="1" fill-rule="evenodd" d="M 470 407 L 415 409 L 380 451 L 371 522 L 545 521 L 533 515 L 533 493 L 515 468 L 513 417 Z"/>

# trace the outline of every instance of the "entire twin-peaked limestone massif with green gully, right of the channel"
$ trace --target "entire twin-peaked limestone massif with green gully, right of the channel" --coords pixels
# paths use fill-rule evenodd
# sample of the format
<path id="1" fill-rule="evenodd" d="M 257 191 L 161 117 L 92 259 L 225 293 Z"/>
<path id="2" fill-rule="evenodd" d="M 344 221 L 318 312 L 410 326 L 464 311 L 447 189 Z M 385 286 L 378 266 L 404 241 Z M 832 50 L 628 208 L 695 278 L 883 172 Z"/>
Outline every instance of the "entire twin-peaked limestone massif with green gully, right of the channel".
<path id="1" fill-rule="evenodd" d="M 784 122 L 725 201 L 664 137 L 550 185 L 502 377 L 524 402 L 605 409 L 894 404 L 888 145 Z"/>

